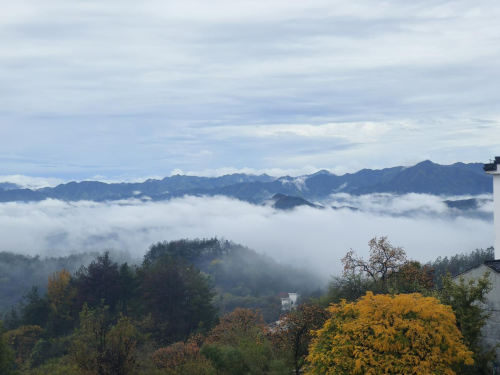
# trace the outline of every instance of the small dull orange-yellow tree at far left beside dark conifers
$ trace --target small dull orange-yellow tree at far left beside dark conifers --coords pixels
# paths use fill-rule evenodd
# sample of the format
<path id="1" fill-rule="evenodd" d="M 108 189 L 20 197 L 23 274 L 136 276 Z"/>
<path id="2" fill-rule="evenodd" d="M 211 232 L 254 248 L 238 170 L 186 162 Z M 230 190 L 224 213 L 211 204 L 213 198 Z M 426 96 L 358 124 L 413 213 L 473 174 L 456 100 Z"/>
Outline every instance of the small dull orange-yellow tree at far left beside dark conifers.
<path id="1" fill-rule="evenodd" d="M 47 295 L 50 307 L 56 317 L 71 320 L 71 306 L 76 296 L 75 289 L 71 286 L 71 274 L 63 269 L 49 276 Z"/>

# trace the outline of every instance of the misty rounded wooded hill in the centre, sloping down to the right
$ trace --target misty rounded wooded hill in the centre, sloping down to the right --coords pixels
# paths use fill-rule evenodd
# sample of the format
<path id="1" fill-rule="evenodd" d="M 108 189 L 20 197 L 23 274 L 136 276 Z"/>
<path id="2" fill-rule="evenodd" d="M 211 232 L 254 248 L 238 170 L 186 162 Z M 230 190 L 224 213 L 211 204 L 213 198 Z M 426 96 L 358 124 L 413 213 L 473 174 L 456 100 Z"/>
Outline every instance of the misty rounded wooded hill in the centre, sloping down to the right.
<path id="1" fill-rule="evenodd" d="M 210 275 L 217 293 L 214 304 L 221 314 L 238 307 L 259 309 L 266 322 L 279 318 L 279 293 L 300 291 L 307 298 L 325 284 L 325 280 L 309 271 L 218 239 L 157 243 L 150 247 L 145 261 L 158 257 L 185 260 Z"/>

